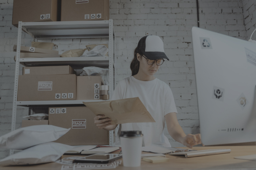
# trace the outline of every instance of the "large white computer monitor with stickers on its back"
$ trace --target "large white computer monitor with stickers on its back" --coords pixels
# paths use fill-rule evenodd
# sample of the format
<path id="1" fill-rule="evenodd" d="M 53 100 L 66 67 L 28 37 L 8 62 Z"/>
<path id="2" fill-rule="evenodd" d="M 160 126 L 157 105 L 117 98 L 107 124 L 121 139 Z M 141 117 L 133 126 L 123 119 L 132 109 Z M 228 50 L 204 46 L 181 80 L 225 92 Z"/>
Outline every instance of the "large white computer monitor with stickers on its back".
<path id="1" fill-rule="evenodd" d="M 202 143 L 256 141 L 256 44 L 197 27 L 191 32 Z"/>

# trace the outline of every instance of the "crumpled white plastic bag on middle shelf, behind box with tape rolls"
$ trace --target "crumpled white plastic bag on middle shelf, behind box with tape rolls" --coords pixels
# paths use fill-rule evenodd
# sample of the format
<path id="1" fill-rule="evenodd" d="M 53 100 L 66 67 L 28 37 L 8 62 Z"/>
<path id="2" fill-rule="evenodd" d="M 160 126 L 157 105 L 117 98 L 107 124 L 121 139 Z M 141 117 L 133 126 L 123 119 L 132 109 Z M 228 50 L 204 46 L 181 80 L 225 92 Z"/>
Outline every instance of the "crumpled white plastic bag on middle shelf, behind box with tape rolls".
<path id="1" fill-rule="evenodd" d="M 109 86 L 109 69 L 108 68 L 99 68 L 99 67 L 84 67 L 83 71 L 79 74 L 80 76 L 92 75 L 92 76 L 101 76 L 104 81 L 104 85 Z"/>

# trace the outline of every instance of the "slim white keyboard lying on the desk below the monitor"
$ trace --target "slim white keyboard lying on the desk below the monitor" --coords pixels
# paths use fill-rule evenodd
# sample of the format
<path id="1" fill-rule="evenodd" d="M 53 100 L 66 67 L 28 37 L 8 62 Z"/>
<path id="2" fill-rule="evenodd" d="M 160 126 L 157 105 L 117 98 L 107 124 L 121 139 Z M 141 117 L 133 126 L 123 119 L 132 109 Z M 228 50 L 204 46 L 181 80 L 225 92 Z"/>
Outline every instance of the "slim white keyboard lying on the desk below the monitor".
<path id="1" fill-rule="evenodd" d="M 206 156 L 206 155 L 216 155 L 222 153 L 230 153 L 230 149 L 205 149 L 200 151 L 177 151 L 174 153 L 169 153 L 169 155 L 180 155 L 185 156 L 186 158 L 189 157 L 196 157 L 196 156 Z"/>

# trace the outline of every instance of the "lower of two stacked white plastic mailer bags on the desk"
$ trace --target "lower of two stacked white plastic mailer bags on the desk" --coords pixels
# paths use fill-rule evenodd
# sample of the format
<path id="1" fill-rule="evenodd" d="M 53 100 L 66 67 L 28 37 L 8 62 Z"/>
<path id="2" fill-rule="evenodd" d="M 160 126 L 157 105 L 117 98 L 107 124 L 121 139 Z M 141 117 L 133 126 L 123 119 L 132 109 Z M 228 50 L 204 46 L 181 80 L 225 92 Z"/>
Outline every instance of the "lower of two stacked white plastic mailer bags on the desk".
<path id="1" fill-rule="evenodd" d="M 47 142 L 36 145 L 0 160 L 1 165 L 31 165 L 55 162 L 73 146 Z"/>

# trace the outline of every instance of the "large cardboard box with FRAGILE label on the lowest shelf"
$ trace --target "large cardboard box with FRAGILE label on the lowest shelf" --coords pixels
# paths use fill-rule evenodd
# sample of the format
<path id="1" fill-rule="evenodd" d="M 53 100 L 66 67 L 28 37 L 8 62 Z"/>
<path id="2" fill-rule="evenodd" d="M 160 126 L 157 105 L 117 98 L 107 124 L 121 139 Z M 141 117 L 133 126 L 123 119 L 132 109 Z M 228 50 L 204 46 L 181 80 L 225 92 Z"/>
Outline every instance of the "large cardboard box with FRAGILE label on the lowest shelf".
<path id="1" fill-rule="evenodd" d="M 55 142 L 66 145 L 109 145 L 109 131 L 94 123 L 94 113 L 86 106 L 50 107 L 49 124 L 71 128 Z"/>

